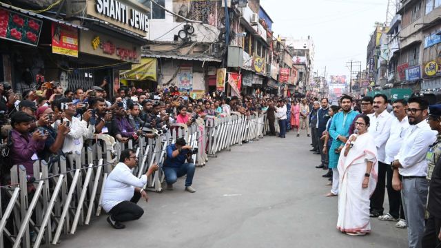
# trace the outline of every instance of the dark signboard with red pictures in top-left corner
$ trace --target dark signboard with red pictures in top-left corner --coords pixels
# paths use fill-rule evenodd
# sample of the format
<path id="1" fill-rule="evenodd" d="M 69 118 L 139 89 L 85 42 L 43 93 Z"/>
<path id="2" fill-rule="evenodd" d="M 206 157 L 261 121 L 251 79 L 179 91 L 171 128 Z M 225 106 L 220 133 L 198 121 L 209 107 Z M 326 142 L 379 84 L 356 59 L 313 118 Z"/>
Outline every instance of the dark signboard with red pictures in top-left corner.
<path id="1" fill-rule="evenodd" d="M 0 39 L 37 46 L 43 21 L 0 8 Z"/>

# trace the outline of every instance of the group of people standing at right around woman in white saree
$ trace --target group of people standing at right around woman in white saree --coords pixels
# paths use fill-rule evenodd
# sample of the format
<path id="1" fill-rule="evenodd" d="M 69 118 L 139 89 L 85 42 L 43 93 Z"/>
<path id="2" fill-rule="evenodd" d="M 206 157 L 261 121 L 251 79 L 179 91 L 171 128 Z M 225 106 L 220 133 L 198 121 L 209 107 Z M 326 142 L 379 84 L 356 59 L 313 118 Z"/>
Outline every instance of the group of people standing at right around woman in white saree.
<path id="1" fill-rule="evenodd" d="M 337 228 L 365 235 L 369 219 L 378 218 L 407 228 L 409 247 L 440 247 L 441 104 L 389 101 L 384 94 L 311 103 L 300 105 L 300 120 L 309 121 L 311 152 L 320 154 L 316 168 L 327 171 L 325 196 L 338 196 Z"/>

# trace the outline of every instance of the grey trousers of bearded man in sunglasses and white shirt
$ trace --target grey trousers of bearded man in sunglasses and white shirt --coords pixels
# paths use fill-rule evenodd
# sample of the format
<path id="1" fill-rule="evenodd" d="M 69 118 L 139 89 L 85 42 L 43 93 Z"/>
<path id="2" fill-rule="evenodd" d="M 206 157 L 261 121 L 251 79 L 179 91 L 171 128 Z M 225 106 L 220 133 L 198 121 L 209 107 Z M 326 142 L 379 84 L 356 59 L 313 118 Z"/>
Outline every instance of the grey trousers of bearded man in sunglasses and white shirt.
<path id="1" fill-rule="evenodd" d="M 422 248 L 428 189 L 426 178 L 402 179 L 401 199 L 407 221 L 409 248 Z"/>

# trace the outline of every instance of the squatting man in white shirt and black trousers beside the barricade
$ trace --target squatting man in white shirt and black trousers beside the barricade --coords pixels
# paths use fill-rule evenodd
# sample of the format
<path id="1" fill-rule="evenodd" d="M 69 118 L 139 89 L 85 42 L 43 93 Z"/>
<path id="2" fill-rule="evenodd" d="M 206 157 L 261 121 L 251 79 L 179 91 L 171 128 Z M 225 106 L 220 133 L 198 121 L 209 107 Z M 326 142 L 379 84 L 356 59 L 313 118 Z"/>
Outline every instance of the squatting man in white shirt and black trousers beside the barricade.
<path id="1" fill-rule="evenodd" d="M 158 169 L 154 164 L 141 178 L 137 178 L 131 172 L 136 166 L 136 155 L 133 149 L 125 149 L 121 152 L 119 163 L 110 172 L 104 183 L 103 209 L 110 214 L 107 222 L 115 229 L 123 229 L 123 221 L 137 220 L 144 214 L 144 210 L 136 205 L 141 197 L 148 200 L 147 193 L 143 189 L 147 183 L 147 177 Z"/>

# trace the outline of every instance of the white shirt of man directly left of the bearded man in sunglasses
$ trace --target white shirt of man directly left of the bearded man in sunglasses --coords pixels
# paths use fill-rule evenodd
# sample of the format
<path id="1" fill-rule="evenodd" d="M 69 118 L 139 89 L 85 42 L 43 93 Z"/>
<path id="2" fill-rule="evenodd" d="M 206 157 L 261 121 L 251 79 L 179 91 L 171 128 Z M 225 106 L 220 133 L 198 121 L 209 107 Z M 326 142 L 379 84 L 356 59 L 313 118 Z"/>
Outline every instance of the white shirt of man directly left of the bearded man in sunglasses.
<path id="1" fill-rule="evenodd" d="M 384 147 L 386 150 L 384 163 L 389 165 L 398 152 L 400 152 L 404 136 L 406 136 L 410 126 L 409 118 L 407 116 L 402 118 L 402 121 L 399 121 L 396 117 L 393 118 L 391 123 L 391 134 L 387 140 L 386 147 Z"/>

